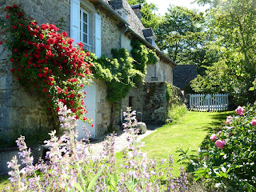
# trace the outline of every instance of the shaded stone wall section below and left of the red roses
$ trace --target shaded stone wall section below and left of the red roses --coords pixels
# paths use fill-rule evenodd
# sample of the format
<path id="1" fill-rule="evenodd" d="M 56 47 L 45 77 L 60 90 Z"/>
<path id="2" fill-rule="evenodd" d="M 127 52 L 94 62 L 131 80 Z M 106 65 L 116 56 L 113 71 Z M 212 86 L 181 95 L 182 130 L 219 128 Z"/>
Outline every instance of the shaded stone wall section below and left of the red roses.
<path id="1" fill-rule="evenodd" d="M 0 140 L 14 141 L 20 134 L 49 129 L 46 109 L 28 94 L 10 73 L 12 63 L 0 60 Z"/>

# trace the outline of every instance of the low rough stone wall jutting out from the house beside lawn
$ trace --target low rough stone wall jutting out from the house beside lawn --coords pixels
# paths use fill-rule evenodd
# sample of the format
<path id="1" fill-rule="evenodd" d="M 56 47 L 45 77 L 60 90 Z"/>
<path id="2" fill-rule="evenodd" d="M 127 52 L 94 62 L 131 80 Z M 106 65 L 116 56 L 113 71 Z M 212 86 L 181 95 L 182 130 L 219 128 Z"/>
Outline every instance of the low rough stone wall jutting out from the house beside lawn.
<path id="1" fill-rule="evenodd" d="M 127 106 L 132 110 L 142 112 L 142 122 L 162 125 L 168 118 L 168 107 L 171 102 L 183 102 L 183 95 L 178 87 L 172 86 L 173 98 L 167 101 L 166 84 L 168 82 L 145 82 L 136 89 L 131 89 L 126 98 L 122 100 L 122 111 Z M 140 121 L 140 114 L 138 120 Z"/>

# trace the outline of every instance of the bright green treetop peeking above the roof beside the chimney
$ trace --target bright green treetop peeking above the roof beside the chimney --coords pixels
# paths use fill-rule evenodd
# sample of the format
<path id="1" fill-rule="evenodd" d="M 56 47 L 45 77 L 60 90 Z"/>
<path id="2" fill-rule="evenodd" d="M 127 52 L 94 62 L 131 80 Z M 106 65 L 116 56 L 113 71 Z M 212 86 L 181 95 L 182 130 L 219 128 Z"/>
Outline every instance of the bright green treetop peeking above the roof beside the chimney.
<path id="1" fill-rule="evenodd" d="M 146 0 L 128 0 L 130 5 L 142 4 L 142 24 L 146 28 L 152 28 L 153 30 L 157 29 L 158 23 L 160 21 L 160 16 L 158 14 L 154 14 L 155 10 L 158 10 L 157 6 L 150 2 L 146 2 Z"/>

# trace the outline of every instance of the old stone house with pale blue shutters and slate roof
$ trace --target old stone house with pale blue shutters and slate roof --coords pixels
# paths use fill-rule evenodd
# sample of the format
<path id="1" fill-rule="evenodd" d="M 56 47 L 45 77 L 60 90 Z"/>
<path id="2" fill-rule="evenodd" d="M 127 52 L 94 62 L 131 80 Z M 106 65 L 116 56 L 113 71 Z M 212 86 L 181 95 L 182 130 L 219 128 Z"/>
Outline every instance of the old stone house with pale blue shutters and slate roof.
<path id="1" fill-rule="evenodd" d="M 173 83 L 174 62 L 167 58 L 155 45 L 153 30 L 146 29 L 140 21 L 140 6 L 130 6 L 126 0 L 0 0 L 0 8 L 17 4 L 26 14 L 39 24 L 63 24 L 74 42 L 83 42 L 87 50 L 98 57 L 111 57 L 111 49 L 125 48 L 130 51 L 130 40 L 136 38 L 150 49 L 156 50 L 159 61 L 147 66 L 145 82 Z M 2 12 L 1 12 L 2 14 Z M 4 38 L 4 37 L 0 37 Z M 0 47 L 0 133 L 6 135 L 20 133 L 20 130 L 42 130 L 50 126 L 44 106 L 37 98 L 19 86 L 10 74 L 12 64 L 7 59 L 8 52 Z M 90 127 L 92 137 L 102 135 L 110 124 L 110 103 L 106 102 L 106 83 L 97 79 L 87 91 L 84 100 L 88 117 L 94 119 Z M 144 89 L 145 90 L 145 89 Z M 122 121 L 124 106 L 132 102 L 127 96 L 121 103 L 117 120 Z M 88 102 L 90 101 L 90 102 Z M 78 122 L 79 138 L 82 138 L 82 122 Z"/>

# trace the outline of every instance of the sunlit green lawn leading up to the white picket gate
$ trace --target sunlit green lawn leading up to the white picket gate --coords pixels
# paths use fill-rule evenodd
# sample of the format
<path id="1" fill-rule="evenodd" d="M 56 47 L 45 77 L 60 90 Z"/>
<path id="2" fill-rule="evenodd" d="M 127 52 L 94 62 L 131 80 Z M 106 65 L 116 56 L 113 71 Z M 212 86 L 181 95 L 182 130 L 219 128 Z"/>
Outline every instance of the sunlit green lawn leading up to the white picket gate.
<path id="1" fill-rule="evenodd" d="M 226 116 L 233 112 L 194 112 L 188 111 L 184 116 L 169 125 L 162 126 L 153 134 L 142 139 L 145 142 L 143 152 L 149 158 L 161 159 L 174 155 L 174 175 L 178 175 L 178 167 L 186 168 L 188 163 L 177 162 L 180 158 L 176 151 L 187 150 L 188 154 L 196 154 L 198 146 L 208 137 L 209 133 L 215 132 L 225 123 Z M 194 151 L 194 152 L 193 152 Z"/>

